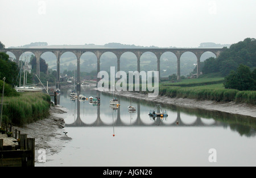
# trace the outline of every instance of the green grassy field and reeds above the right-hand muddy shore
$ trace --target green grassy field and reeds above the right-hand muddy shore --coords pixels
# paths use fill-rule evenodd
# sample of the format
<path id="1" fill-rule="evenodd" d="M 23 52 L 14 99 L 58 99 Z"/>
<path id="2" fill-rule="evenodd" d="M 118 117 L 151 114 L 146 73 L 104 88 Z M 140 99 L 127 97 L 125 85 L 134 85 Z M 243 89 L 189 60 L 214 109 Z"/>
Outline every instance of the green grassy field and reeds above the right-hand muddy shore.
<path id="1" fill-rule="evenodd" d="M 222 78 L 198 78 L 160 84 L 159 94 L 172 98 L 235 101 L 237 103 L 256 105 L 256 91 L 225 89 L 222 84 Z"/>

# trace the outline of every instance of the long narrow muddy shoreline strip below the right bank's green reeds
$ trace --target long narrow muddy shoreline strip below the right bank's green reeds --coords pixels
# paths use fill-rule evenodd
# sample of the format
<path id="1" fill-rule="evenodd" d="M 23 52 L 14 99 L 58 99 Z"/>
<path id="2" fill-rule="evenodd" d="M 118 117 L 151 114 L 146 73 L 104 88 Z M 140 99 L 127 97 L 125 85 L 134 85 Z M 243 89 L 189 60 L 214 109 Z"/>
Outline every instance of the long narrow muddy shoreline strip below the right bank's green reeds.
<path id="1" fill-rule="evenodd" d="M 97 90 L 97 89 L 96 89 Z M 112 92 L 104 93 L 111 94 Z M 237 104 L 236 102 L 216 102 L 209 100 L 195 100 L 189 98 L 170 98 L 167 96 L 158 96 L 155 98 L 149 98 L 147 94 L 138 92 L 114 92 L 115 95 L 123 97 L 138 98 L 146 101 L 159 102 L 160 104 L 177 105 L 183 107 L 193 107 L 212 111 L 222 111 L 230 114 L 240 114 L 256 118 L 256 106 L 248 104 Z"/>

